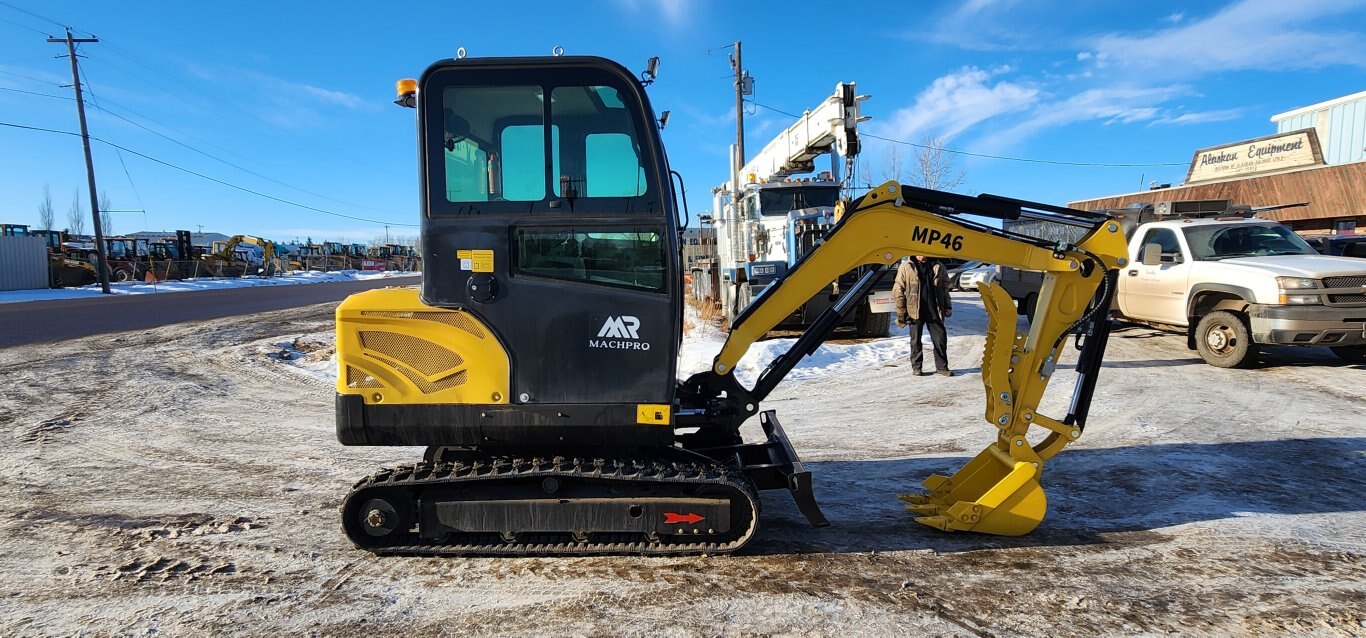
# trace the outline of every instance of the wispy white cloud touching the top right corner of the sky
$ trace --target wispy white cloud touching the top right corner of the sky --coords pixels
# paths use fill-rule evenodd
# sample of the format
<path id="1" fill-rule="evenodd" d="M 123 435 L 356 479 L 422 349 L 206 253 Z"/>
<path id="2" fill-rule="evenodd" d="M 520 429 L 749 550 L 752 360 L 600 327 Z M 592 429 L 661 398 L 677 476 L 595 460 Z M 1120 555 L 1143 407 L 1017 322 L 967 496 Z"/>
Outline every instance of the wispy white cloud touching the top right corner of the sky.
<path id="1" fill-rule="evenodd" d="M 1240 0 L 1205 19 L 1142 36 L 1105 34 L 1087 44 L 1134 77 L 1173 81 L 1242 70 L 1366 67 L 1366 38 L 1309 23 L 1366 5 L 1363 0 Z"/>

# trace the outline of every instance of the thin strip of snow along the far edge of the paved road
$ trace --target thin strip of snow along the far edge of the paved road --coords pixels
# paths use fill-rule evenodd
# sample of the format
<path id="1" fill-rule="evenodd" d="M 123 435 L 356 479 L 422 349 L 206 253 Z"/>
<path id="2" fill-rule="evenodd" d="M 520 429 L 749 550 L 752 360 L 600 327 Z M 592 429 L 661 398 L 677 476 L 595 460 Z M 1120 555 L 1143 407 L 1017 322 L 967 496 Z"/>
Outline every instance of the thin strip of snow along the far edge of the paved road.
<path id="1" fill-rule="evenodd" d="M 180 281 L 111 281 L 109 292 L 115 295 L 150 295 L 160 292 L 190 292 L 198 290 L 250 288 L 257 286 L 299 286 L 321 284 L 331 281 L 362 281 L 370 279 L 388 277 L 417 277 L 414 272 L 374 272 L 374 271 L 336 271 L 336 272 L 295 272 L 277 275 L 273 277 L 197 277 Z M 0 291 L 0 303 L 33 302 L 46 299 L 85 299 L 102 296 L 100 284 L 81 286 L 75 288 L 42 288 L 42 290 L 7 290 Z"/>

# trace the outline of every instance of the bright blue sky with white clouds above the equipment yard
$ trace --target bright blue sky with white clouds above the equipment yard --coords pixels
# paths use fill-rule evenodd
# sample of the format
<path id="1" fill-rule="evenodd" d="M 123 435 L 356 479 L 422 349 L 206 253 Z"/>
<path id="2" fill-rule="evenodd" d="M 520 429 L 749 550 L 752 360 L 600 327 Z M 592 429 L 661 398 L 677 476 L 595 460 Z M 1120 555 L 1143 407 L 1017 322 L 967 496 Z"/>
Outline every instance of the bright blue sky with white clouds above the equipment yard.
<path id="1" fill-rule="evenodd" d="M 1146 164 L 956 156 L 963 190 L 1056 204 L 1180 182 L 1195 149 L 1274 133 L 1272 115 L 1366 89 L 1366 0 L 887 1 L 839 11 L 714 0 L 4 1 L 0 122 L 78 128 L 63 87 L 70 67 L 55 57 L 64 48 L 45 41 L 70 25 L 102 40 L 81 46 L 92 102 L 101 107 L 90 109 L 92 135 L 279 199 L 374 220 L 247 194 L 94 143 L 113 208 L 145 210 L 115 213 L 119 232 L 202 225 L 280 240 L 370 240 L 389 223 L 391 235 L 414 235 L 400 225 L 418 220 L 414 122 L 391 104 L 393 82 L 460 46 L 503 56 L 561 45 L 628 68 L 660 56 L 649 90 L 656 109 L 672 111 L 665 145 L 694 216 L 727 179 L 735 98 L 724 46 L 735 40 L 755 78 L 751 153 L 791 122 L 777 111 L 799 113 L 852 81 L 872 96 L 863 108 L 873 120 L 862 130 L 880 137 Z M 865 182 L 889 178 L 891 148 L 865 139 Z M 912 153 L 902 146 L 902 163 Z M 0 221 L 36 223 L 46 186 L 64 225 L 75 191 L 89 206 L 85 184 L 78 138 L 0 126 Z"/>

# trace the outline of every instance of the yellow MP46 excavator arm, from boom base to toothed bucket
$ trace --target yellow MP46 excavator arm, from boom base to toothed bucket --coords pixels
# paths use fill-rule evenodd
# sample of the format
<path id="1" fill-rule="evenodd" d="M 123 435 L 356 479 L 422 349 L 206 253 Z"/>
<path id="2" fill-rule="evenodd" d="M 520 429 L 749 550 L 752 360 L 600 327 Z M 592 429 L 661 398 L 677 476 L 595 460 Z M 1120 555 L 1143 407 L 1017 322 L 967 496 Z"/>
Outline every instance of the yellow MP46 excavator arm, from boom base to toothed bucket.
<path id="1" fill-rule="evenodd" d="M 1048 219 L 1089 228 L 1076 245 L 1012 235 L 960 214 L 997 219 Z M 907 255 L 979 260 L 1044 272 L 1035 318 L 1029 332 L 1016 329 L 1016 311 L 999 286 L 979 287 L 989 317 L 982 358 L 985 418 L 996 440 L 952 477 L 933 475 L 925 495 L 902 496 L 917 521 L 943 530 L 974 530 L 1018 536 L 1038 526 L 1046 499 L 1038 485 L 1044 462 L 1081 437 L 1108 337 L 1108 307 L 1115 272 L 1126 264 L 1124 235 L 1117 221 L 1085 210 L 1024 202 L 994 195 L 964 197 L 888 182 L 836 212 L 825 242 L 781 280 L 765 288 L 735 320 L 712 370 L 690 378 L 684 396 L 708 399 L 710 418 L 736 425 L 751 417 L 796 361 L 810 354 L 852 310 L 887 269 Z M 818 320 L 792 350 L 759 376 L 754 388 L 734 380 L 750 346 L 840 273 L 859 265 L 882 268 L 844 292 L 840 303 Z M 1064 418 L 1037 411 L 1061 354 L 1065 336 L 1078 332 L 1082 346 L 1078 384 Z M 1083 340 L 1085 337 L 1085 340 Z M 727 400 L 729 399 L 729 400 Z M 697 403 L 697 402 L 695 402 Z M 728 411 L 727 411 L 728 410 Z M 724 413 L 724 414 L 723 414 Z M 766 415 L 772 419 L 772 415 Z M 1033 436 L 1037 428 L 1038 436 Z M 1033 436 L 1033 437 L 1031 437 Z M 783 441 L 787 445 L 785 440 Z M 792 488 L 802 504 L 802 495 Z M 809 497 L 809 496 L 807 496 Z M 814 501 L 809 504 L 814 508 Z M 806 507 L 803 507 L 806 511 Z M 813 518 L 813 522 L 816 519 Z"/>

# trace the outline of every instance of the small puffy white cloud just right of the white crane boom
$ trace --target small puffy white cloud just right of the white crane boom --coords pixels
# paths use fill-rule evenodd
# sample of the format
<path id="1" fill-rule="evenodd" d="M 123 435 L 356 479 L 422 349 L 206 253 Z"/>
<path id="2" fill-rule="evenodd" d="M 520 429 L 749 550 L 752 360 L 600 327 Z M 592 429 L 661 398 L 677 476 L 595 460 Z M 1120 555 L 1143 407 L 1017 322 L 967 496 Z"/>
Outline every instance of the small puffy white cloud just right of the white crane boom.
<path id="1" fill-rule="evenodd" d="M 912 105 L 897 109 L 874 130 L 893 139 L 914 141 L 933 134 L 948 141 L 992 117 L 1027 109 L 1038 100 L 1035 87 L 1008 81 L 993 85 L 990 79 L 992 74 L 975 67 L 940 77 Z"/>

